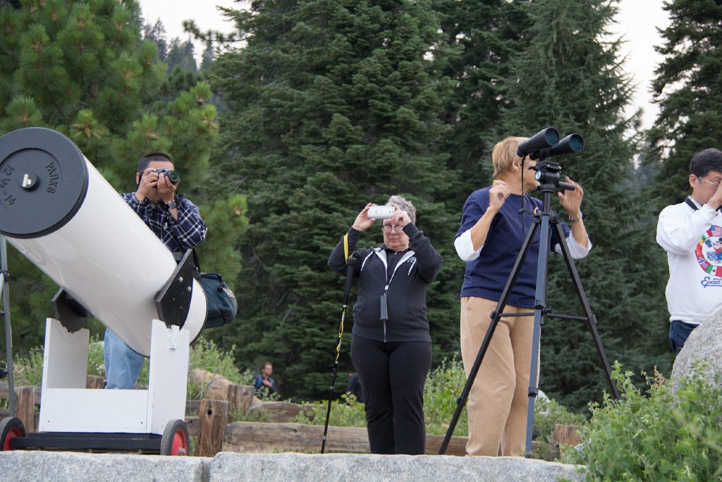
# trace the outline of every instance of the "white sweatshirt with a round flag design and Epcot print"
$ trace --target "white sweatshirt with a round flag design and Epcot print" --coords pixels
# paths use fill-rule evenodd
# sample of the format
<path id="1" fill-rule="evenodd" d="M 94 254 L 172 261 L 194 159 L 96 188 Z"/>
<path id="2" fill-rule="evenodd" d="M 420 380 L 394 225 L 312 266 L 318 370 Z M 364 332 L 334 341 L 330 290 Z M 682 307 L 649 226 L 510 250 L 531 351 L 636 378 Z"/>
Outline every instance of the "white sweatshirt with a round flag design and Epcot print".
<path id="1" fill-rule="evenodd" d="M 722 310 L 722 213 L 695 205 L 699 210 L 685 202 L 667 206 L 657 223 L 657 243 L 669 262 L 669 319 L 690 324 Z"/>

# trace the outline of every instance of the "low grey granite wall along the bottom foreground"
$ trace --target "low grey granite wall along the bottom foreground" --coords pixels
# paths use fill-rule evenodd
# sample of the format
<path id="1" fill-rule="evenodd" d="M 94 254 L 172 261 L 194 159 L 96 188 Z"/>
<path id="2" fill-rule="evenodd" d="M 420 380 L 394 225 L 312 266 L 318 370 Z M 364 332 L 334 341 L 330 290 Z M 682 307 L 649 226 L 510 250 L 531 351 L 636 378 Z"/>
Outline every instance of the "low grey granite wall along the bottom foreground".
<path id="1" fill-rule="evenodd" d="M 2 481 L 582 481 L 583 468 L 521 457 L 237 454 L 209 457 L 0 452 Z"/>

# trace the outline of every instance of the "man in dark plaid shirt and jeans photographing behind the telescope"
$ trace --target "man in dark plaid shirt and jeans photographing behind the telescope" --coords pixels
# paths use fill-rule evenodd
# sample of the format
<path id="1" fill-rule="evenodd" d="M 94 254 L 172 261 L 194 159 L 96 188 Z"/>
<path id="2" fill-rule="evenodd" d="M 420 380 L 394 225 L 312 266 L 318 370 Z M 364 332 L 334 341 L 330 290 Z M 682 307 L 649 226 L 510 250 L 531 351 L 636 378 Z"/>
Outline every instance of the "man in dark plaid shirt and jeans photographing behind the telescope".
<path id="1" fill-rule="evenodd" d="M 175 194 L 179 180 L 173 160 L 162 152 L 152 152 L 138 161 L 138 189 L 121 194 L 155 236 L 174 253 L 194 248 L 206 238 L 207 231 L 198 207 L 182 194 Z M 106 329 L 105 388 L 134 388 L 143 358 Z"/>

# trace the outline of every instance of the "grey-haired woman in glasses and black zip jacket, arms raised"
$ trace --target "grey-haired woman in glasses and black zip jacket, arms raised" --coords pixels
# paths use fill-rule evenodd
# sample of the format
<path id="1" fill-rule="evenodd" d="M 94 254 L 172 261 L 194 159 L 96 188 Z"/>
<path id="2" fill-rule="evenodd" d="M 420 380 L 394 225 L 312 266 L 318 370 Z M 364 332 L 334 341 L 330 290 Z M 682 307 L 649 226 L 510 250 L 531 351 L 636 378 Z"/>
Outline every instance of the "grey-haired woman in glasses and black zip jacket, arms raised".
<path id="1" fill-rule="evenodd" d="M 383 245 L 356 249 L 362 231 L 378 225 L 368 217 L 369 203 L 336 245 L 329 267 L 345 275 L 345 252 L 359 261 L 351 361 L 366 397 L 371 453 L 419 455 L 425 453 L 423 395 L 431 366 L 426 290 L 441 257 L 414 224 L 411 202 L 392 196 L 387 204 L 396 210 L 380 222 Z"/>

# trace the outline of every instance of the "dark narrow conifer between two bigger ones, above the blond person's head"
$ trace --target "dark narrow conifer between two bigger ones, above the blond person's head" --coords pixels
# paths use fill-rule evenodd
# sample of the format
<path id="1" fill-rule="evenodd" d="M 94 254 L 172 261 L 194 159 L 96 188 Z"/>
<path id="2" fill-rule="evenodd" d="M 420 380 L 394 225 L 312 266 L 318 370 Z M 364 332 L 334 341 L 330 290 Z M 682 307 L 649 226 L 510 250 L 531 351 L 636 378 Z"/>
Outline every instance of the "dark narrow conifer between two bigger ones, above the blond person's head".
<path id="1" fill-rule="evenodd" d="M 448 152 L 449 167 L 458 172 L 448 199 L 456 215 L 472 191 L 489 184 L 492 166 L 487 162 L 497 138 L 505 98 L 502 82 L 510 60 L 529 43 L 522 2 L 505 0 L 436 0 L 441 18 L 445 55 L 441 73 L 453 79 L 453 92 L 443 119 L 451 132 L 441 149 Z"/>

